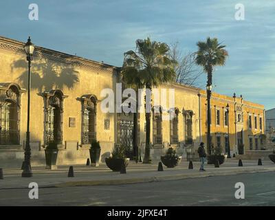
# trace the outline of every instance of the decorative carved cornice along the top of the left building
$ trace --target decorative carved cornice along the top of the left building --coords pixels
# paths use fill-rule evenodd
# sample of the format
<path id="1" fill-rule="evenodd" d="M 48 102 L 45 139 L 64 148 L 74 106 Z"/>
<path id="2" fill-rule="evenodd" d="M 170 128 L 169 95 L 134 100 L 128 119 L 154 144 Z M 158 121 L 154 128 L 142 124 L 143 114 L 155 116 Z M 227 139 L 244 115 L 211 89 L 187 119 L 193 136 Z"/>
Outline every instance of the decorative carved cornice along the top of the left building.
<path id="1" fill-rule="evenodd" d="M 24 45 L 25 43 L 23 42 L 7 39 L 3 36 L 0 36 L 0 49 L 17 52 L 19 54 L 25 54 L 25 51 L 23 49 Z M 96 61 L 91 61 L 85 58 L 81 58 L 79 56 L 57 52 L 55 50 L 50 50 L 39 46 L 36 46 L 34 50 L 34 59 L 36 58 L 45 58 L 50 61 L 64 63 L 66 65 L 72 65 L 74 67 L 86 67 L 95 71 L 104 71 L 111 74 L 117 74 L 118 72 L 120 72 L 119 67 L 114 67 L 104 63 L 98 63 Z"/>

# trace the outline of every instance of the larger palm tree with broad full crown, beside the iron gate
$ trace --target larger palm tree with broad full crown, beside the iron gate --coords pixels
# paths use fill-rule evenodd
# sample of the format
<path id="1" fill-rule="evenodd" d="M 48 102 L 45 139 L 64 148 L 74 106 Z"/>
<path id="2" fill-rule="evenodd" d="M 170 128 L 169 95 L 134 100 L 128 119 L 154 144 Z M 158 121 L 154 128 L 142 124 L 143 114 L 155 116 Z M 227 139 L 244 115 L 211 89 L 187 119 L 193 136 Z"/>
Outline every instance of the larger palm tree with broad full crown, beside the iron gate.
<path id="1" fill-rule="evenodd" d="M 175 80 L 175 61 L 169 58 L 166 43 L 151 41 L 149 38 L 136 41 L 136 50 L 124 53 L 122 78 L 137 88 L 152 90 L 162 83 Z M 128 80 L 127 80 L 128 79 Z M 148 103 L 146 103 L 148 104 Z M 150 103 L 151 104 L 151 103 Z M 151 106 L 150 108 L 151 109 Z M 151 111 L 146 111 L 146 144 L 144 163 L 150 163 L 150 124 Z"/>

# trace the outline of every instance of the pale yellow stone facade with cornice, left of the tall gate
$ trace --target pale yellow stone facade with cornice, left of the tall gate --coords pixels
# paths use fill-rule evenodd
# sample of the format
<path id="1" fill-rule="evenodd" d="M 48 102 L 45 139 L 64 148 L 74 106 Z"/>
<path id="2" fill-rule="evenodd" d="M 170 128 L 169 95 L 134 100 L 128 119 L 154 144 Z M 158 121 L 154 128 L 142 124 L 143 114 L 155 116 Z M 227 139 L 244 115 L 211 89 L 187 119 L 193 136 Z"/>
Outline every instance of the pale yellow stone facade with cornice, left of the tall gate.
<path id="1" fill-rule="evenodd" d="M 25 132 L 27 124 L 27 74 L 28 63 L 23 51 L 24 43 L 0 38 L 0 91 L 6 93 L 14 89 L 19 94 L 19 142 L 1 144 L 0 161 L 3 159 L 23 159 Z M 58 164 L 83 164 L 89 158 L 89 144 L 83 142 L 83 102 L 100 103 L 100 91 L 104 88 L 115 90 L 117 67 L 89 61 L 77 56 L 63 54 L 43 47 L 36 47 L 32 61 L 32 90 L 30 102 L 30 144 L 32 146 L 32 164 L 45 164 L 44 148 L 47 140 L 53 136 L 54 109 L 58 109 L 60 126 L 57 131 L 61 142 Z M 7 98 L 1 100 L 1 108 Z M 55 103 L 56 102 L 56 103 Z M 98 109 L 98 108 L 97 108 Z M 10 113 L 6 113 L 10 114 Z M 57 115 L 57 113 L 56 113 Z M 20 118 L 20 119 L 19 119 Z M 116 139 L 116 115 L 96 111 L 96 138 L 100 141 L 102 155 L 108 155 Z M 110 126 L 104 129 L 104 120 Z M 1 127 L 8 122 L 3 121 Z M 12 122 L 10 122 L 11 124 Z M 8 124 L 8 126 L 10 126 Z M 3 133 L 10 133 L 2 129 Z"/>

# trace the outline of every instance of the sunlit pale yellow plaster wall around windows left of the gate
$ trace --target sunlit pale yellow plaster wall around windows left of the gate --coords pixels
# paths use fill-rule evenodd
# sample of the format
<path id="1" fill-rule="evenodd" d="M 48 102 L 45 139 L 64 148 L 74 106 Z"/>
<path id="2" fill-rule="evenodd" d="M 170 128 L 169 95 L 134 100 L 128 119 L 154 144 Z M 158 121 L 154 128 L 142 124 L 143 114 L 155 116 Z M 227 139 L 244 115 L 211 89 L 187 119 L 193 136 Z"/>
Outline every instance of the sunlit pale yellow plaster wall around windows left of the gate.
<path id="1" fill-rule="evenodd" d="M 43 69 L 41 66 L 43 65 Z M 100 64 L 98 64 L 100 65 Z M 27 82 L 20 80 L 20 77 L 28 70 L 28 63 L 25 54 L 0 49 L 1 83 L 18 83 L 21 88 L 27 89 Z M 72 85 L 72 75 L 68 74 L 63 78 L 61 70 L 75 72 L 78 82 Z M 27 76 L 27 75 L 25 75 Z M 43 78 L 45 76 L 45 78 Z M 58 80 L 58 82 L 55 82 Z M 60 81 L 59 81 L 60 80 Z M 115 85 L 115 72 L 102 69 L 91 69 L 82 66 L 72 66 L 65 63 L 50 61 L 45 58 L 34 57 L 32 61 L 32 90 L 30 103 L 30 139 L 31 142 L 41 141 L 43 144 L 43 97 L 39 92 L 50 91 L 50 89 L 61 89 L 63 94 L 68 96 L 64 100 L 63 113 L 63 144 L 65 141 L 78 141 L 81 144 L 81 104 L 76 100 L 85 94 L 94 94 L 100 100 L 100 91 L 104 88 L 113 88 Z M 67 86 L 67 85 L 72 85 Z M 21 96 L 21 144 L 25 140 L 26 118 L 27 117 L 27 93 Z M 69 127 L 69 117 L 76 118 L 76 127 Z M 110 119 L 110 130 L 104 130 L 104 119 Z M 100 142 L 115 142 L 114 114 L 102 113 L 100 102 L 97 104 L 97 139 Z"/>

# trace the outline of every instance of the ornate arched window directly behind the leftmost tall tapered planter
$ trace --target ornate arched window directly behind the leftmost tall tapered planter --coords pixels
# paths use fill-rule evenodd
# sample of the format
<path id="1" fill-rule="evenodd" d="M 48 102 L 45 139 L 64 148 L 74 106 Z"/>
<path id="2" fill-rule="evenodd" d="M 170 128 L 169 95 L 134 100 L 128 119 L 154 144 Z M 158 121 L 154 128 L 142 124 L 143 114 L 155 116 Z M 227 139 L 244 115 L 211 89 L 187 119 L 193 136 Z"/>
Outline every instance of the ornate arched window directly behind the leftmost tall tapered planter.
<path id="1" fill-rule="evenodd" d="M 40 95 L 44 98 L 44 143 L 63 144 L 63 102 L 67 96 L 59 89 Z"/>

